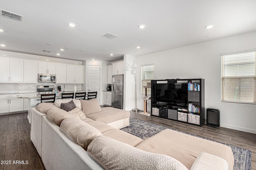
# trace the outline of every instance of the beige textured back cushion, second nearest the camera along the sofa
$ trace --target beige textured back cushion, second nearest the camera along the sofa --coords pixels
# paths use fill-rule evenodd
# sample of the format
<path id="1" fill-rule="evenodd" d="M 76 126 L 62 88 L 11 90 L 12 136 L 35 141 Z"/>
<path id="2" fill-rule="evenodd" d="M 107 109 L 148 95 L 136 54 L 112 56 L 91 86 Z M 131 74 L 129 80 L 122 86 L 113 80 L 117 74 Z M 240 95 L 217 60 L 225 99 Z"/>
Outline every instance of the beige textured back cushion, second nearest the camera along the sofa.
<path id="1" fill-rule="evenodd" d="M 101 135 L 98 129 L 77 118 L 64 119 L 60 129 L 85 150 L 93 139 Z"/>

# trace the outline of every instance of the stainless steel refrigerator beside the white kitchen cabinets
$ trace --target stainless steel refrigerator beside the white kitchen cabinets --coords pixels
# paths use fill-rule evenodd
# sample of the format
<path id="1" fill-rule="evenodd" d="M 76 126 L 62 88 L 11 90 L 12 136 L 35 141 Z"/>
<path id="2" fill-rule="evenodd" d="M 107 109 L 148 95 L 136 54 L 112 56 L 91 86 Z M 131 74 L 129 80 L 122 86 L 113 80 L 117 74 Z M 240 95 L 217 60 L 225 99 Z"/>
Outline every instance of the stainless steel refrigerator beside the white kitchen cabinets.
<path id="1" fill-rule="evenodd" d="M 112 76 L 112 107 L 123 109 L 124 75 Z"/>

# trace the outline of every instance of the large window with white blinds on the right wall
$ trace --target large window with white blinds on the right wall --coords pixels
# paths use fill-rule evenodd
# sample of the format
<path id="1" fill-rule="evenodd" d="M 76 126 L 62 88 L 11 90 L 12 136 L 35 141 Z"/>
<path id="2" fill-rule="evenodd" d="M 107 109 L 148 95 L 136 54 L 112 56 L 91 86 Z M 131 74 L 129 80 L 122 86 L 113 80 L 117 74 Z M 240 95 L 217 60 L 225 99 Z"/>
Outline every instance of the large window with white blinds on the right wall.
<path id="1" fill-rule="evenodd" d="M 255 51 L 222 55 L 222 102 L 256 104 Z"/>

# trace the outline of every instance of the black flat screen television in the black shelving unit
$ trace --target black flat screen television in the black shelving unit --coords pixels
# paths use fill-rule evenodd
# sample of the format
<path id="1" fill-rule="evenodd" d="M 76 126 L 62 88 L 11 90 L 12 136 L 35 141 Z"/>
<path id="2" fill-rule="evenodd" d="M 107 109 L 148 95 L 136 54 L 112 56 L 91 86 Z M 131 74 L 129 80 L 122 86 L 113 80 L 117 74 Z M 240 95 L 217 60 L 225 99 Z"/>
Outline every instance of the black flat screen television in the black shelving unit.
<path id="1" fill-rule="evenodd" d="M 188 106 L 188 82 L 168 81 L 155 84 L 155 101 L 170 106 Z"/>

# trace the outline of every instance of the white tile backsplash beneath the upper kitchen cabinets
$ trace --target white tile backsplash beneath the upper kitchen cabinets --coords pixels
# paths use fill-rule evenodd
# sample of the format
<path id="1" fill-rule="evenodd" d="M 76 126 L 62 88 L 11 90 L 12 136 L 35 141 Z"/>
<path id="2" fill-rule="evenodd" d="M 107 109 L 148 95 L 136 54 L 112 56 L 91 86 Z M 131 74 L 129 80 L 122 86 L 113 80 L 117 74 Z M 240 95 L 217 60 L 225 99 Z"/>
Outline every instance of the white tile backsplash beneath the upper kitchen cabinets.
<path id="1" fill-rule="evenodd" d="M 56 84 L 49 82 L 38 82 L 35 84 L 26 84 L 26 83 L 0 83 L 0 93 L 31 93 L 37 92 L 38 85 L 54 85 L 55 90 L 57 90 L 58 86 L 61 86 L 61 90 L 64 90 L 64 84 Z M 84 90 L 82 89 L 82 84 L 65 84 L 66 91 L 74 90 L 74 86 L 76 86 L 76 90 Z"/>

